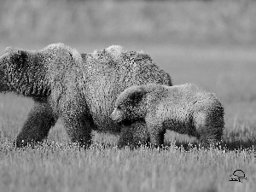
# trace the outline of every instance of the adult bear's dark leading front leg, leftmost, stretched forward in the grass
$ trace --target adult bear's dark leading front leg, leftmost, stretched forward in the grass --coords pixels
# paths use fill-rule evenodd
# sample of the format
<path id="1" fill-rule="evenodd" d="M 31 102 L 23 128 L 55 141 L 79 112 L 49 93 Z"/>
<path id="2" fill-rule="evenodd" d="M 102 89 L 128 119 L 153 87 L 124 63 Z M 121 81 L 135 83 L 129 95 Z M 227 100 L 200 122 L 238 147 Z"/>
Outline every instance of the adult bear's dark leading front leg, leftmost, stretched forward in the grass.
<path id="1" fill-rule="evenodd" d="M 49 129 L 55 125 L 56 120 L 48 102 L 35 100 L 20 134 L 15 140 L 15 146 L 20 148 L 29 143 L 42 142 L 48 136 Z"/>

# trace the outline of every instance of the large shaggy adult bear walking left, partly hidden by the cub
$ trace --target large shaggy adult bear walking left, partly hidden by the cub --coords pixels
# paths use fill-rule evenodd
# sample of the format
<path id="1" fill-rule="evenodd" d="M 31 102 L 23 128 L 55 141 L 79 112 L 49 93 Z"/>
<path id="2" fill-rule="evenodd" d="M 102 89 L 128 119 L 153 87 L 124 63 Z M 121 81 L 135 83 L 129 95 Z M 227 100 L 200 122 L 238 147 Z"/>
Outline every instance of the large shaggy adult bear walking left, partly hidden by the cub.
<path id="1" fill-rule="evenodd" d="M 119 133 L 109 118 L 116 97 L 133 84 L 172 85 L 151 58 L 120 46 L 79 54 L 64 44 L 38 51 L 7 48 L 0 57 L 0 91 L 31 97 L 35 104 L 18 147 L 41 142 L 61 118 L 71 140 L 90 145 L 91 130 Z"/>

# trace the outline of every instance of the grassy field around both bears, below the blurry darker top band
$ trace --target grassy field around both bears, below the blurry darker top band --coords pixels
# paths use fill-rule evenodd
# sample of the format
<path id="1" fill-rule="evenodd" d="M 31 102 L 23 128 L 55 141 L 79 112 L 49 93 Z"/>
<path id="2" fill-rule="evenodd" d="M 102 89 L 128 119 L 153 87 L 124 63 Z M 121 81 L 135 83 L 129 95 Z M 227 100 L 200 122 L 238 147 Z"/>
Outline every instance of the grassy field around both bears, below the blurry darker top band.
<path id="1" fill-rule="evenodd" d="M 246 46 L 123 44 L 144 49 L 174 84 L 194 82 L 223 101 L 226 128 L 219 148 L 198 149 L 193 138 L 166 133 L 168 148 L 118 149 L 118 137 L 95 133 L 89 149 L 68 144 L 58 122 L 38 148 L 11 148 L 32 102 L 0 96 L 0 191 L 247 191 L 256 189 L 256 55 Z M 42 45 L 44 46 L 44 45 Z M 106 44 L 73 44 L 81 52 Z M 3 50 L 3 48 L 1 48 Z M 230 181 L 236 170 L 242 183 Z"/>

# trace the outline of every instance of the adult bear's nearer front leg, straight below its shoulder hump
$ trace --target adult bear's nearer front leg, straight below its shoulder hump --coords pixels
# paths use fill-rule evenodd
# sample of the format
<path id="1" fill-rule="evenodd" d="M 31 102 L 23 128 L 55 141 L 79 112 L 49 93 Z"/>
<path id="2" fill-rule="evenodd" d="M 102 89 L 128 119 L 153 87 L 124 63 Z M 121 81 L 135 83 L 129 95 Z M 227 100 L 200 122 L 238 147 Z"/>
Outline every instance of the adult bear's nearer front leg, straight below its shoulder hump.
<path id="1" fill-rule="evenodd" d="M 61 118 L 71 141 L 84 148 L 90 147 L 94 123 L 85 100 L 67 99 L 61 105 Z"/>

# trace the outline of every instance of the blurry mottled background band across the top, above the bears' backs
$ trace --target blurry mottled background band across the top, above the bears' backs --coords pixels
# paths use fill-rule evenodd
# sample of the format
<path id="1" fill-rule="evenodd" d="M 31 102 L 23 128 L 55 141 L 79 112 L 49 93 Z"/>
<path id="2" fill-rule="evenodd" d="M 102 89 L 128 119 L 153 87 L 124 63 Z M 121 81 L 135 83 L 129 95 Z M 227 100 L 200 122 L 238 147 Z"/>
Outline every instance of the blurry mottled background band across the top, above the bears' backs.
<path id="1" fill-rule="evenodd" d="M 255 42 L 256 2 L 1 1 L 3 41 Z"/>

